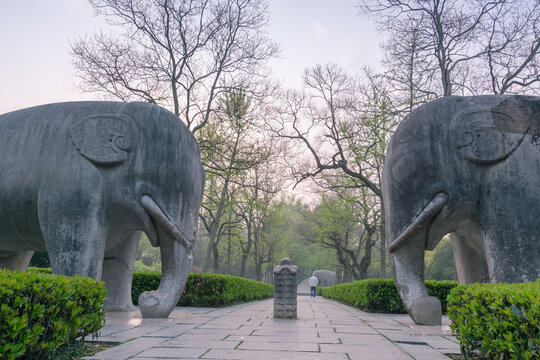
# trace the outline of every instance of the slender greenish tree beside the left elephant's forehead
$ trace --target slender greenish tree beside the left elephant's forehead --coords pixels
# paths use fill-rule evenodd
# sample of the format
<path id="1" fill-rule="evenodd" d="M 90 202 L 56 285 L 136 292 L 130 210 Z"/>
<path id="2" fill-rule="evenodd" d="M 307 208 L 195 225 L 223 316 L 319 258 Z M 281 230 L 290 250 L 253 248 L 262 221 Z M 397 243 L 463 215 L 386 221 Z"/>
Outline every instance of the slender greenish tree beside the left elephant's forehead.
<path id="1" fill-rule="evenodd" d="M 223 93 L 218 103 L 219 111 L 214 114 L 218 121 L 198 133 L 207 173 L 200 214 L 209 239 L 204 269 L 214 272 L 219 269 L 223 231 L 231 225 L 224 216 L 233 211 L 235 193 L 243 186 L 243 173 L 268 160 L 268 154 L 252 140 L 260 104 L 253 105 L 243 90 Z"/>

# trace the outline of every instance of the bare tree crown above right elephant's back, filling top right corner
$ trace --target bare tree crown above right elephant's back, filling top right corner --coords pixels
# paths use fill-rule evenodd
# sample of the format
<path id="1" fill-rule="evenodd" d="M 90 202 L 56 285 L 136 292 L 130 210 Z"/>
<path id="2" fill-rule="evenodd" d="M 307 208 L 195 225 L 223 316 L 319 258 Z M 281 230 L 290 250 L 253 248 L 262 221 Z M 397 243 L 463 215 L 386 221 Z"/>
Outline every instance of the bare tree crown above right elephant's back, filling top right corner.
<path id="1" fill-rule="evenodd" d="M 521 92 L 538 85 L 537 0 L 360 0 L 389 33 L 386 64 L 408 90 Z M 414 62 L 411 60 L 415 60 Z M 430 83 L 437 79 L 437 83 Z"/>

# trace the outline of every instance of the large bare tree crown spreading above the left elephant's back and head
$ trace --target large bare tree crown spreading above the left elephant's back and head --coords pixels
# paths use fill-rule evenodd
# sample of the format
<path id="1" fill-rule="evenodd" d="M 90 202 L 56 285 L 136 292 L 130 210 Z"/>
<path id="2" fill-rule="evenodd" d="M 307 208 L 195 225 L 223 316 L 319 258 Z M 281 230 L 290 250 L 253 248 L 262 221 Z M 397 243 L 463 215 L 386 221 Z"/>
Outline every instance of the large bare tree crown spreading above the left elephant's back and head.
<path id="1" fill-rule="evenodd" d="M 81 88 L 121 101 L 168 107 L 193 132 L 214 100 L 242 84 L 261 86 L 278 46 L 265 33 L 265 0 L 90 0 L 116 27 L 72 44 Z"/>

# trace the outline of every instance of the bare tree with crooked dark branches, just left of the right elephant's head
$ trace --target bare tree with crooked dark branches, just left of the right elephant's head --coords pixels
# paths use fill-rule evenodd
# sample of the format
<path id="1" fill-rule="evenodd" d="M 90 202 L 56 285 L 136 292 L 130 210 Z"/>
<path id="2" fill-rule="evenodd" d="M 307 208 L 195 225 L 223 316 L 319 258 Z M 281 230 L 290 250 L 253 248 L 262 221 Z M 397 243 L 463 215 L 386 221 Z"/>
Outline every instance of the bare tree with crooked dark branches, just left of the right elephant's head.
<path id="1" fill-rule="evenodd" d="M 396 116 L 381 80 L 368 76 L 361 85 L 335 64 L 317 65 L 305 71 L 303 93 L 286 92 L 269 126 L 296 146 L 289 157 L 303 160 L 290 163 L 297 183 L 341 173 L 350 178 L 350 186 L 374 195 L 383 211 L 380 180 Z M 384 276 L 384 236 L 380 241 Z"/>

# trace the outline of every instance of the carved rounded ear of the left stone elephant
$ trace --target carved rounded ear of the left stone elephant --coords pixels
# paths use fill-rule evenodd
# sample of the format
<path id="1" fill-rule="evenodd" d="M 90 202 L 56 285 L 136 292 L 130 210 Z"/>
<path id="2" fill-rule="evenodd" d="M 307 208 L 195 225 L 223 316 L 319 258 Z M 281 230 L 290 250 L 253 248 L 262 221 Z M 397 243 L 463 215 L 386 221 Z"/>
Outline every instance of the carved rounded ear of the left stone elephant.
<path id="1" fill-rule="evenodd" d="M 135 145 L 133 121 L 121 114 L 89 116 L 71 127 L 71 139 L 82 156 L 96 165 L 122 163 Z"/>

